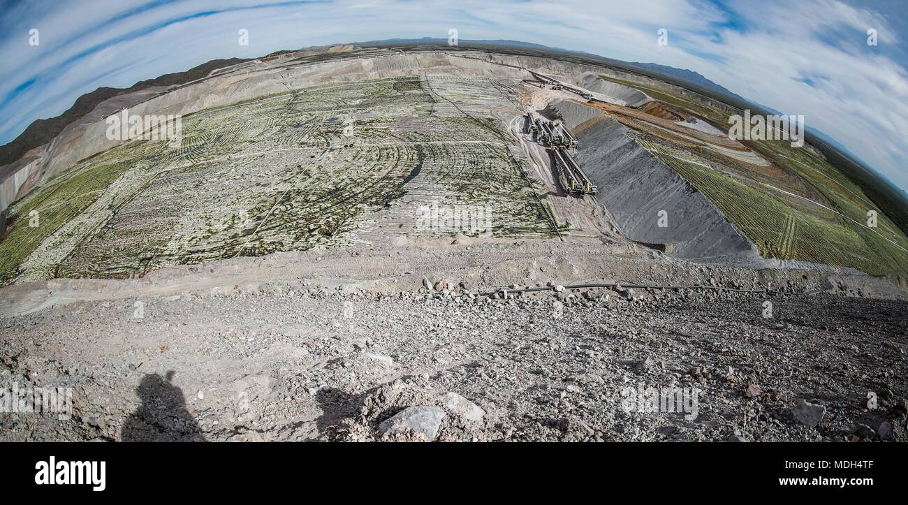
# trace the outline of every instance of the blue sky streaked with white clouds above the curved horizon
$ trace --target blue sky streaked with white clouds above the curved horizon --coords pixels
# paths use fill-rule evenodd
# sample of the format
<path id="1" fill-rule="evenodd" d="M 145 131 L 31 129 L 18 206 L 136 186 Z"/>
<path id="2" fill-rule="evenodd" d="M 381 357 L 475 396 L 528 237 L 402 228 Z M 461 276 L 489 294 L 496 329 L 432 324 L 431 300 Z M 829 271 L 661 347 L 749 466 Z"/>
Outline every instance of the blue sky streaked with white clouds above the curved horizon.
<path id="1" fill-rule="evenodd" d="M 513 39 L 688 68 L 908 188 L 906 0 L 0 0 L 0 144 L 99 86 L 214 58 L 384 38 Z M 29 45 L 29 30 L 39 45 Z M 249 31 L 249 45 L 238 31 Z M 656 32 L 668 31 L 668 45 Z M 877 45 L 867 45 L 867 31 Z"/>

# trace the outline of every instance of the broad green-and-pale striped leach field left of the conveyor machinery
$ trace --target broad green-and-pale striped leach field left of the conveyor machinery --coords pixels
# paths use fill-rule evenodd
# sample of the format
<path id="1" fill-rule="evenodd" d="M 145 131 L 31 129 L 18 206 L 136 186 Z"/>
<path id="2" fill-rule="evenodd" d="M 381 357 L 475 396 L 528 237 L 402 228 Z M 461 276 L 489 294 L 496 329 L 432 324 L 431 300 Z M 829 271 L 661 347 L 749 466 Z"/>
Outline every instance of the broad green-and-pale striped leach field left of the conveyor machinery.
<path id="1" fill-rule="evenodd" d="M 489 209 L 490 229 L 467 233 L 553 235 L 538 183 L 491 115 L 511 105 L 509 86 L 372 79 L 186 116 L 179 148 L 121 144 L 15 203 L 0 284 L 461 231 L 420 226 L 433 202 Z"/>

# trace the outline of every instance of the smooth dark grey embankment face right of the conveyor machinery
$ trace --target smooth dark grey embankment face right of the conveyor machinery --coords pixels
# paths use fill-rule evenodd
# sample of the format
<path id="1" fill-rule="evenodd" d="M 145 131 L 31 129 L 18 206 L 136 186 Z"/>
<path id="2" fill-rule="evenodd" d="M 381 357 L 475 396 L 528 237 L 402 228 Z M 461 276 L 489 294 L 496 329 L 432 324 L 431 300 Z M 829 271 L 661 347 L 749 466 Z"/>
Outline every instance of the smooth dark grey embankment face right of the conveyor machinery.
<path id="1" fill-rule="evenodd" d="M 627 127 L 569 101 L 551 104 L 547 113 L 574 129 L 577 163 L 627 238 L 664 244 L 666 253 L 680 258 L 761 262 L 755 246 L 684 178 L 629 137 Z"/>

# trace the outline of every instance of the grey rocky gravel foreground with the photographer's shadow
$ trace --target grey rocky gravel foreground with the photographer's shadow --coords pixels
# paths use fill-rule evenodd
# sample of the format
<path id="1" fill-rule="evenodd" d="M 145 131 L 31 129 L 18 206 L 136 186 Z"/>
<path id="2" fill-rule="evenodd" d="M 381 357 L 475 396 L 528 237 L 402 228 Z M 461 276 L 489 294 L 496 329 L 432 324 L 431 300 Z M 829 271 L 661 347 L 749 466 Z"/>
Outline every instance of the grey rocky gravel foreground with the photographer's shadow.
<path id="1" fill-rule="evenodd" d="M 74 412 L 0 414 L 0 439 L 908 440 L 906 302 L 426 285 L 5 318 L 0 380 L 73 388 Z"/>

